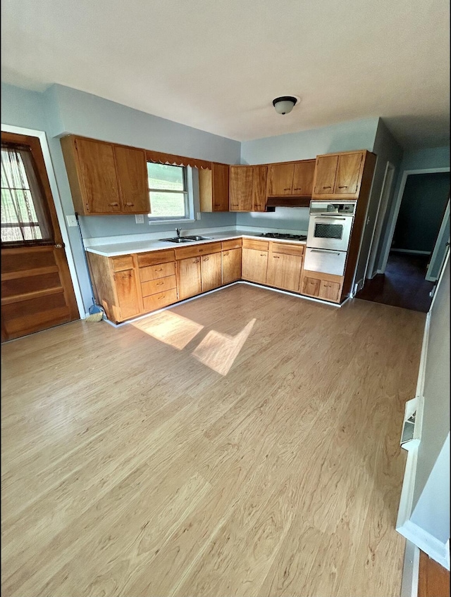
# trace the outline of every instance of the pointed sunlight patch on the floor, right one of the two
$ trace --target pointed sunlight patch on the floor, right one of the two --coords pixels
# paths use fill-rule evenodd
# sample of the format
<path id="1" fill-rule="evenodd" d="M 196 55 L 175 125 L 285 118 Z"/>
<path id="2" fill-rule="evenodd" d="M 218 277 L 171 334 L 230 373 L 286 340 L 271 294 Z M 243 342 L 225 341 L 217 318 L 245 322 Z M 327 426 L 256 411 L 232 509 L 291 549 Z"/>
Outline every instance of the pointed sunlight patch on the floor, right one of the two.
<path id="1" fill-rule="evenodd" d="M 212 329 L 192 351 L 192 356 L 217 373 L 227 375 L 256 321 L 250 320 L 236 336 L 221 334 Z"/>

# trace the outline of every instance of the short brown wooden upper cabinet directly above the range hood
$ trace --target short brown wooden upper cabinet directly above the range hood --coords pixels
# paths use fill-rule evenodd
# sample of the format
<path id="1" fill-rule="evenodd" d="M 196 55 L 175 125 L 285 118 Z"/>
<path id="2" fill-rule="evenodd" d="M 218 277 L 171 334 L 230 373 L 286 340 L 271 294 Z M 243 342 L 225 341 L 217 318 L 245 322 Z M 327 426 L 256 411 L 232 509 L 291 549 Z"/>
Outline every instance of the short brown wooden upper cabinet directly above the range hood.
<path id="1" fill-rule="evenodd" d="M 270 164 L 266 194 L 311 196 L 314 172 L 315 160 Z"/>

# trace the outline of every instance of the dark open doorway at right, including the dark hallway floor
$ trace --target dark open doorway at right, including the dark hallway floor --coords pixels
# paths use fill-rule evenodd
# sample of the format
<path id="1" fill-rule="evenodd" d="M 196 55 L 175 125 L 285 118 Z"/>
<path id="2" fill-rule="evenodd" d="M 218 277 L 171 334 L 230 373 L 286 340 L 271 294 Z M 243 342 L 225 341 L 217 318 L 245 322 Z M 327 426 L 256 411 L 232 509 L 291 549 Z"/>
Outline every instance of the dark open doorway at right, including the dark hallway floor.
<path id="1" fill-rule="evenodd" d="M 385 263 L 356 298 L 428 312 L 436 280 L 428 275 L 429 265 L 438 246 L 445 245 L 443 230 L 449 231 L 449 192 L 449 170 L 404 172 Z"/>

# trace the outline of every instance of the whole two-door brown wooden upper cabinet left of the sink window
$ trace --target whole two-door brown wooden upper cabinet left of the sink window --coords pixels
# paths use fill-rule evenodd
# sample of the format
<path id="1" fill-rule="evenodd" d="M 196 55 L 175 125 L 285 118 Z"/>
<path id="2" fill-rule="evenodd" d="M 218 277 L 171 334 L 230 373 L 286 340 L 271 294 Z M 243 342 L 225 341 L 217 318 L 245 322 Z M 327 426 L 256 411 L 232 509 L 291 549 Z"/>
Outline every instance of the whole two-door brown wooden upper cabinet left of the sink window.
<path id="1" fill-rule="evenodd" d="M 68 135 L 61 139 L 75 211 L 81 215 L 149 213 L 144 149 Z"/>

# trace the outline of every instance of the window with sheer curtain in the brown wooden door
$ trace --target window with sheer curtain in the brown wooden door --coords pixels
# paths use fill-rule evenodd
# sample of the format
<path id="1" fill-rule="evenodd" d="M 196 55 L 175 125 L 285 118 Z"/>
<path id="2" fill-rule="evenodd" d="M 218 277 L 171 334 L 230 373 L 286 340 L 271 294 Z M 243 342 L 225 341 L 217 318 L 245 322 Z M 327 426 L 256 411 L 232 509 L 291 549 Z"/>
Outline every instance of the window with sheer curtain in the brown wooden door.
<path id="1" fill-rule="evenodd" d="M 1 143 L 1 242 L 53 244 L 47 201 L 30 147 Z"/>

